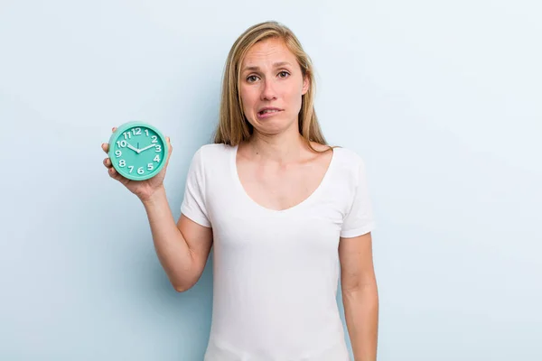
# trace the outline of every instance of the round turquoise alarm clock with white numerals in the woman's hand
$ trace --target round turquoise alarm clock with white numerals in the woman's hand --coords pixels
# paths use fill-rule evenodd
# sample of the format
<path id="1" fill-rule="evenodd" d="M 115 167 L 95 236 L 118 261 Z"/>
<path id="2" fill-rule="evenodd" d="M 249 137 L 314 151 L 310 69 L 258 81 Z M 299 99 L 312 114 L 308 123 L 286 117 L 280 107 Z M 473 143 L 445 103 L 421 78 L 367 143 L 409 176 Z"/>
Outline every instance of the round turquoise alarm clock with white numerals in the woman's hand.
<path id="1" fill-rule="evenodd" d="M 148 180 L 167 161 L 167 141 L 156 127 L 133 121 L 118 126 L 109 138 L 109 159 L 115 170 L 128 180 Z"/>

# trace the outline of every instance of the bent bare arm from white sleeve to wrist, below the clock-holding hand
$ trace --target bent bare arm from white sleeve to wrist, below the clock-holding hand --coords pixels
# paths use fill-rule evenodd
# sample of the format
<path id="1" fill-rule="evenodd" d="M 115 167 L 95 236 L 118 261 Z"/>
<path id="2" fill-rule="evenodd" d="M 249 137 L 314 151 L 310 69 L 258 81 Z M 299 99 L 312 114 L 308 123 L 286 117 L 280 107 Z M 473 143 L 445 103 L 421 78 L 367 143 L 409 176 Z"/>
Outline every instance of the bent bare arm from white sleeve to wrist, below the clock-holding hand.
<path id="1" fill-rule="evenodd" d="M 173 288 L 189 290 L 201 277 L 210 254 L 212 230 L 181 215 L 177 224 L 164 187 L 143 201 L 154 248 Z"/>

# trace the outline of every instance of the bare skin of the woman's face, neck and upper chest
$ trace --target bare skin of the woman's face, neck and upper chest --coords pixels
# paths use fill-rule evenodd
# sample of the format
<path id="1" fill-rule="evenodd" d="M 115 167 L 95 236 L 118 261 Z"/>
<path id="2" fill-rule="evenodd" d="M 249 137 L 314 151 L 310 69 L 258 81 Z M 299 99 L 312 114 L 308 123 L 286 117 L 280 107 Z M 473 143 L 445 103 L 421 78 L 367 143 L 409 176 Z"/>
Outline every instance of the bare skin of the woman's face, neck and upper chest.
<path id="1" fill-rule="evenodd" d="M 308 79 L 280 40 L 258 42 L 242 63 L 239 91 L 254 133 L 239 144 L 238 177 L 248 196 L 263 207 L 300 203 L 318 187 L 331 162 L 332 152 L 314 153 L 298 131 L 297 116 L 308 88 Z M 263 107 L 280 110 L 262 117 L 258 111 Z"/>

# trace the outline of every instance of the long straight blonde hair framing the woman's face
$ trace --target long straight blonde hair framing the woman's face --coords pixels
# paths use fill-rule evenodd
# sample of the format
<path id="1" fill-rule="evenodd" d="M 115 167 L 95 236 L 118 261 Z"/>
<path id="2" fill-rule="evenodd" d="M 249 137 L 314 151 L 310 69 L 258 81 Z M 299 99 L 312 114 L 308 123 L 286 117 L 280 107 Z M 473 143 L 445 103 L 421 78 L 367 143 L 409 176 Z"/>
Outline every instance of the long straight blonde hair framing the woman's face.
<path id="1" fill-rule="evenodd" d="M 245 118 L 238 91 L 241 63 L 252 45 L 272 37 L 282 39 L 285 42 L 286 47 L 292 51 L 299 63 L 303 76 L 309 80 L 309 88 L 302 97 L 298 116 L 299 133 L 312 149 L 311 142 L 327 145 L 314 111 L 315 85 L 312 61 L 295 37 L 294 32 L 277 22 L 257 23 L 249 27 L 233 43 L 226 60 L 222 79 L 219 125 L 214 135 L 214 143 L 238 145 L 238 143 L 248 140 L 252 134 L 253 127 Z M 315 150 L 313 149 L 313 151 Z"/>

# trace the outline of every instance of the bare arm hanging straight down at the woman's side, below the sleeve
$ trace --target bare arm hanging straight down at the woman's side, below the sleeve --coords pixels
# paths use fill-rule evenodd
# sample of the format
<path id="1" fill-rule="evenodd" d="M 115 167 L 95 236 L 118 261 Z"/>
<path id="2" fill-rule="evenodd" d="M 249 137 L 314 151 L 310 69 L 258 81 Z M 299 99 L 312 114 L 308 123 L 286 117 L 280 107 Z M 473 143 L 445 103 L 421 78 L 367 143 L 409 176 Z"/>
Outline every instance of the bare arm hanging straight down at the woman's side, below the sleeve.
<path id="1" fill-rule="evenodd" d="M 342 302 L 355 361 L 376 361 L 378 287 L 372 260 L 371 234 L 341 237 Z"/>

